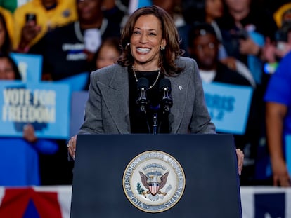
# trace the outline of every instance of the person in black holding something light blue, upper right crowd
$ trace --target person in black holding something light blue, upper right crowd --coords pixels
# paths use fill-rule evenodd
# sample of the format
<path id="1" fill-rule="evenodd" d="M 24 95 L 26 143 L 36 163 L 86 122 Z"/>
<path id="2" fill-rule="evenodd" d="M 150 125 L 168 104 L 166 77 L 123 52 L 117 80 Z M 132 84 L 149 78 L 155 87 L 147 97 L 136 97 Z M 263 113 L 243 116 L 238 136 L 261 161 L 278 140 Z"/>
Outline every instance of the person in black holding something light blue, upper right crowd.
<path id="1" fill-rule="evenodd" d="M 219 19 L 222 43 L 228 55 L 247 65 L 259 86 L 264 83 L 264 42 L 266 38 L 274 40 L 276 22 L 254 0 L 224 0 L 224 3 L 224 15 Z"/>

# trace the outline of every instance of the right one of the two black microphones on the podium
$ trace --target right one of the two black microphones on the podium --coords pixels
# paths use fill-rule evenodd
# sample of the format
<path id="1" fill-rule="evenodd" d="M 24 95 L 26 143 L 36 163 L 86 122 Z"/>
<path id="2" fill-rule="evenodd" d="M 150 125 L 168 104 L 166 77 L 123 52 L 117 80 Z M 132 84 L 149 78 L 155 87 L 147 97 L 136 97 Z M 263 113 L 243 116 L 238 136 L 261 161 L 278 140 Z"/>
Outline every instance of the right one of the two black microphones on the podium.
<path id="1" fill-rule="evenodd" d="M 161 108 L 163 114 L 169 114 L 170 108 L 173 106 L 173 100 L 171 96 L 171 81 L 167 78 L 160 80 L 160 95 L 161 95 Z"/>

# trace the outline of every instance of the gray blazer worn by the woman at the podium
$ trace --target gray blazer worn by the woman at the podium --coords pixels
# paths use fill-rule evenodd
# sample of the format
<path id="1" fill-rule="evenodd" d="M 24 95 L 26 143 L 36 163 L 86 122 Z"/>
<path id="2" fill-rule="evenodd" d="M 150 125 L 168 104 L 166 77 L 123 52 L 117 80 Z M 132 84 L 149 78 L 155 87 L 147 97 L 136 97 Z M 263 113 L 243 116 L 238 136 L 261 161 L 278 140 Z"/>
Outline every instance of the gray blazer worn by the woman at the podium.
<path id="1" fill-rule="evenodd" d="M 172 84 L 173 106 L 169 114 L 170 133 L 215 133 L 195 60 L 179 57 L 184 70 L 167 77 Z M 114 64 L 91 73 L 89 100 L 78 134 L 129 134 L 129 78 L 127 67 Z"/>

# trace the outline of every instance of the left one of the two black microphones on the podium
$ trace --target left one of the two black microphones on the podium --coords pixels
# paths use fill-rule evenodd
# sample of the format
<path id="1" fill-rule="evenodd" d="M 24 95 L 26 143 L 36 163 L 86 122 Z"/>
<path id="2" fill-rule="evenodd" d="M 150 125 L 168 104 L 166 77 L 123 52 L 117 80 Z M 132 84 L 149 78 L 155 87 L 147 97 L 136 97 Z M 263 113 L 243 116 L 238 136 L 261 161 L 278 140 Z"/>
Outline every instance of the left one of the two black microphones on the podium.
<path id="1" fill-rule="evenodd" d="M 146 114 L 146 108 L 148 106 L 148 79 L 145 77 L 141 77 L 137 81 L 137 89 L 138 89 L 138 99 L 136 100 L 136 104 L 139 105 L 139 110 Z"/>

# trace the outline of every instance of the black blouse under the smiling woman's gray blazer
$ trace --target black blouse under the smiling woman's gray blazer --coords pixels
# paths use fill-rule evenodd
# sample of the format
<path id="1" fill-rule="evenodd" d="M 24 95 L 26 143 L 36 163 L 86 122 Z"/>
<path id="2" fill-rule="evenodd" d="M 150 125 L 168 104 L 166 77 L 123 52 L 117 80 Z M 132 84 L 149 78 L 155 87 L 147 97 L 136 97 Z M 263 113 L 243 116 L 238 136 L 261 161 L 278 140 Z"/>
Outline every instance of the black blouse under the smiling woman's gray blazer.
<path id="1" fill-rule="evenodd" d="M 131 67 L 129 72 L 129 117 L 131 125 L 131 133 L 153 133 L 154 115 L 157 115 L 157 133 L 169 133 L 168 116 L 162 114 L 160 110 L 160 92 L 159 82 L 164 75 L 161 73 L 157 83 L 153 88 L 147 91 L 148 107 L 146 114 L 139 110 L 136 100 L 138 99 L 138 90 L 134 72 Z M 157 79 L 158 71 L 136 71 L 136 77 L 139 79 L 145 77 L 152 86 Z"/>

